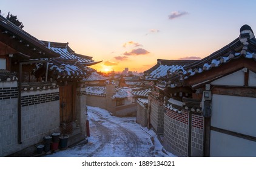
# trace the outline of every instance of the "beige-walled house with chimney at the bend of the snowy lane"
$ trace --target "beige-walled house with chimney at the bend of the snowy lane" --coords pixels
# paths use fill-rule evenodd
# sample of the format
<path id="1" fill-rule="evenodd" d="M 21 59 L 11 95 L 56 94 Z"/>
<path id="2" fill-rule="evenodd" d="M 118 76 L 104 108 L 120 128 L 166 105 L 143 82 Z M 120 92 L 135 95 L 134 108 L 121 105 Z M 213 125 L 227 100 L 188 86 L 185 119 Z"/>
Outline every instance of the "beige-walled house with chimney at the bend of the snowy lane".
<path id="1" fill-rule="evenodd" d="M 102 86 L 86 86 L 86 104 L 106 109 L 115 116 L 136 116 L 137 103 L 132 88 L 119 88 L 112 80 Z"/>

